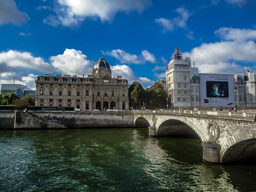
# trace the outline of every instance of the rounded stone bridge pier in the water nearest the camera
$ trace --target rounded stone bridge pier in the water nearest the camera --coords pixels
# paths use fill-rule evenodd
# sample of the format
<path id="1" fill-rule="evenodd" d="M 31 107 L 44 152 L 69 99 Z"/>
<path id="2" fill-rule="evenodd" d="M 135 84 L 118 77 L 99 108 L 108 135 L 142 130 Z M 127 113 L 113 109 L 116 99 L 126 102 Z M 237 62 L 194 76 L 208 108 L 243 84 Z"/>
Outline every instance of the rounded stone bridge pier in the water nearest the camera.
<path id="1" fill-rule="evenodd" d="M 206 141 L 203 146 L 203 161 L 207 163 L 220 163 L 221 146 L 215 141 Z"/>

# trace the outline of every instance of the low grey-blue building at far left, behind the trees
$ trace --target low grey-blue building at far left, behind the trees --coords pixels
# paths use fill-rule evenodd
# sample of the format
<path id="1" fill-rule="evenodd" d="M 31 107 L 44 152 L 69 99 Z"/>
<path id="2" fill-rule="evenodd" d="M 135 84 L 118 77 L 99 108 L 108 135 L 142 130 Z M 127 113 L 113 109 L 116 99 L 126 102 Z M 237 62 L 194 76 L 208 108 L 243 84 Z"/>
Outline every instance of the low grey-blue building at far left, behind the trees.
<path id="1" fill-rule="evenodd" d="M 20 98 L 28 95 L 29 97 L 35 97 L 36 91 L 33 89 L 30 89 L 26 85 L 20 85 L 20 84 L 2 84 L 1 87 L 1 94 L 2 96 L 4 94 L 9 94 L 9 93 L 15 93 L 19 95 Z"/>

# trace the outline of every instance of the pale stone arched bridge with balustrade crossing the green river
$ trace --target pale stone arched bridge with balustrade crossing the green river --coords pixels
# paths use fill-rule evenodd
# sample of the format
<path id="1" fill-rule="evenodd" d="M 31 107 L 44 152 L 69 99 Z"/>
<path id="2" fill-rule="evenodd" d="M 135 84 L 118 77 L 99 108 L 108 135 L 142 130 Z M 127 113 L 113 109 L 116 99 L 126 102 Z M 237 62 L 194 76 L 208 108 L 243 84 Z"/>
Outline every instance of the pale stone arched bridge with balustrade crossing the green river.
<path id="1" fill-rule="evenodd" d="M 256 111 L 134 111 L 134 126 L 147 125 L 149 135 L 155 137 L 199 137 L 206 162 L 244 162 L 256 159 L 255 114 Z"/>

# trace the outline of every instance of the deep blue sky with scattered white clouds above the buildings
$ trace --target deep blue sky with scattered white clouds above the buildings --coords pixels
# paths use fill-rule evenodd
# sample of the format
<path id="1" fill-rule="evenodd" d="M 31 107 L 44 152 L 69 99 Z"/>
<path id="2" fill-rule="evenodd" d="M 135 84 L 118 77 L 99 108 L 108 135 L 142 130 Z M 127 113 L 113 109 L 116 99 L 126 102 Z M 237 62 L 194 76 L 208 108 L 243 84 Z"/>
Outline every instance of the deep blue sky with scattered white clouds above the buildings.
<path id="1" fill-rule="evenodd" d="M 256 73 L 256 0 L 0 0 L 0 82 L 38 75 L 112 76 L 147 88 L 175 48 L 199 73 Z"/>

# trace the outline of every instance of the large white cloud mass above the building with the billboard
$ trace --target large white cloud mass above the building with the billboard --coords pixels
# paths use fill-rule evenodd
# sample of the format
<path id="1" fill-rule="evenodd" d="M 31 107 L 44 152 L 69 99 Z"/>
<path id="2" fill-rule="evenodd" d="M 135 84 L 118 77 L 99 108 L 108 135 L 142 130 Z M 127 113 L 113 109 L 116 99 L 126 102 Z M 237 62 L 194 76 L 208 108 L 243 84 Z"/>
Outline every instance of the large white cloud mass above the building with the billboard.
<path id="1" fill-rule="evenodd" d="M 201 73 L 241 73 L 244 66 L 238 62 L 256 62 L 256 30 L 220 28 L 215 34 L 221 42 L 203 43 L 190 52 Z"/>

